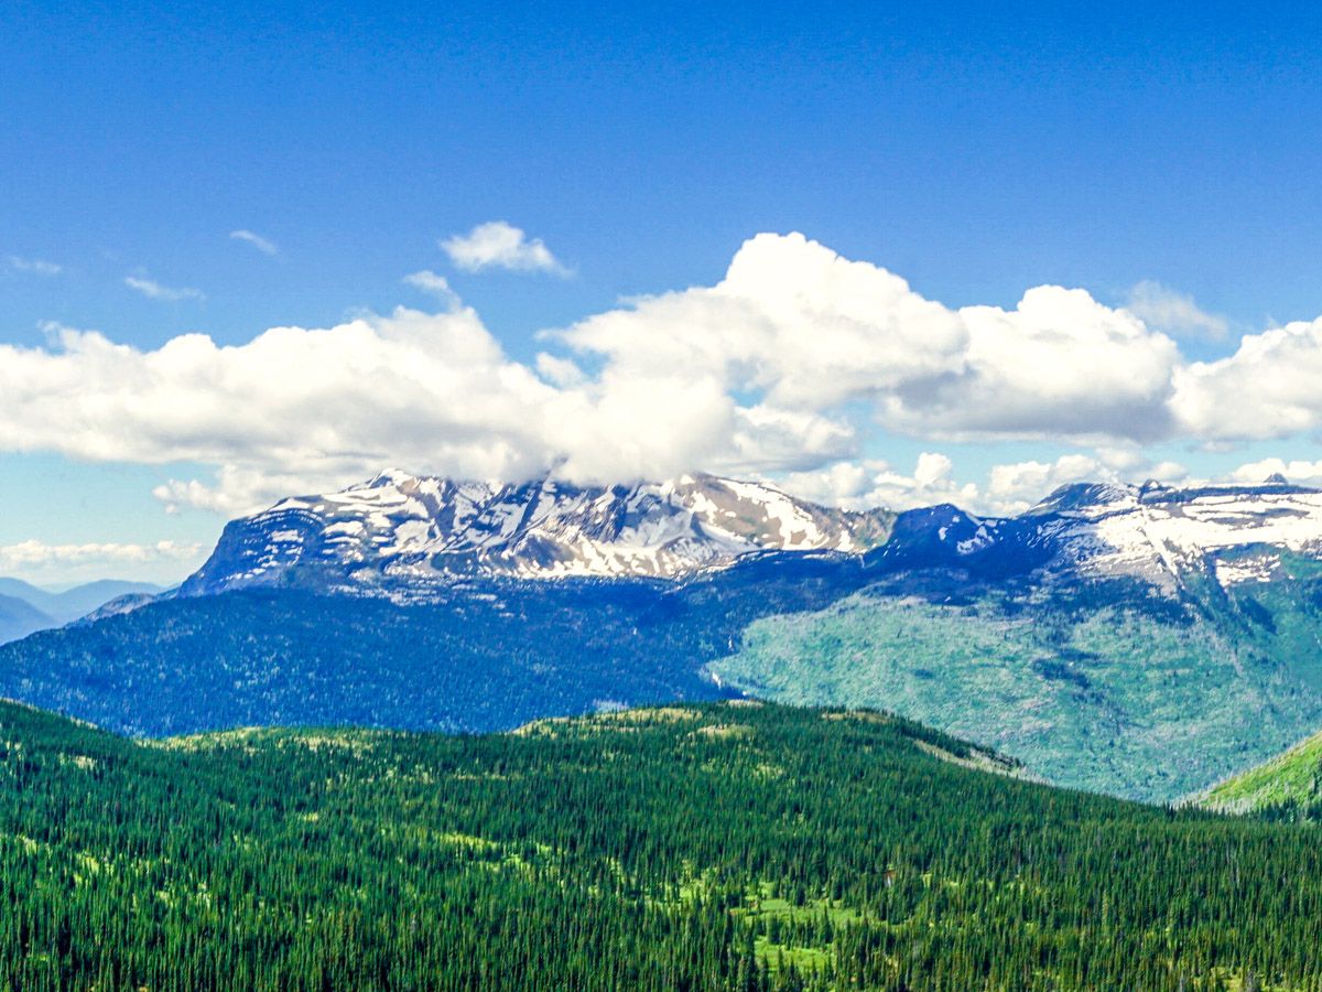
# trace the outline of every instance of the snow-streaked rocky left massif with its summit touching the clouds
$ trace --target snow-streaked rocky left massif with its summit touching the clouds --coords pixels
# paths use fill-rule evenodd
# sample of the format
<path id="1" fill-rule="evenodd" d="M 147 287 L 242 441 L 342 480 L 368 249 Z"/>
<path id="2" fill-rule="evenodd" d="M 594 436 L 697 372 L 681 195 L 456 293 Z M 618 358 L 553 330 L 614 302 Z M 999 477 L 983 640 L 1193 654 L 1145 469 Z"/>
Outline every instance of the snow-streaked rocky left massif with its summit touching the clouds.
<path id="1" fill-rule="evenodd" d="M 383 472 L 226 526 L 182 594 L 299 585 L 412 598 L 456 579 L 681 578 L 768 550 L 861 553 L 894 515 L 818 507 L 758 483 L 492 485 Z"/>

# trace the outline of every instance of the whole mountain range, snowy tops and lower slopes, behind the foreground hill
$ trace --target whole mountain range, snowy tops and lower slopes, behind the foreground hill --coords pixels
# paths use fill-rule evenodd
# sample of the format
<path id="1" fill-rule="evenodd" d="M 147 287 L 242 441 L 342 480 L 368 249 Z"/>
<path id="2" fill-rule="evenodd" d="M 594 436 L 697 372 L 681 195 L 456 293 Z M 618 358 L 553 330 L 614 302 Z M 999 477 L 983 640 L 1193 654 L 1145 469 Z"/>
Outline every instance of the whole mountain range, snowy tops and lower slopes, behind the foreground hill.
<path id="1" fill-rule="evenodd" d="M 1322 493 L 1069 485 L 1015 517 L 710 476 L 389 474 L 226 528 L 177 594 L 0 647 L 0 696 L 134 734 L 488 731 L 665 700 L 898 712 L 1175 800 L 1322 727 Z"/>

